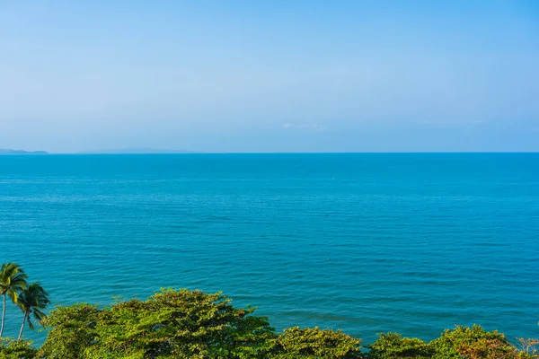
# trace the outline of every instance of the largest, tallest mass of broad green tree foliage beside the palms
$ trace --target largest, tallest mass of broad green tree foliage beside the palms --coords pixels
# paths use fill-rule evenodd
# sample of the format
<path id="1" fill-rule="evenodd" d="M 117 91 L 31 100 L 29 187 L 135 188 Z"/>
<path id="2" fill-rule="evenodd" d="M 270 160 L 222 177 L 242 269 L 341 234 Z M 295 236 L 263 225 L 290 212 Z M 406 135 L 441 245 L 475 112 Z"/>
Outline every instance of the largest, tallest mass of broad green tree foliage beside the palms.
<path id="1" fill-rule="evenodd" d="M 52 311 L 40 355 L 56 358 L 255 358 L 273 329 L 254 309 L 235 309 L 221 293 L 163 290 L 149 300 L 99 310 L 79 304 Z"/>

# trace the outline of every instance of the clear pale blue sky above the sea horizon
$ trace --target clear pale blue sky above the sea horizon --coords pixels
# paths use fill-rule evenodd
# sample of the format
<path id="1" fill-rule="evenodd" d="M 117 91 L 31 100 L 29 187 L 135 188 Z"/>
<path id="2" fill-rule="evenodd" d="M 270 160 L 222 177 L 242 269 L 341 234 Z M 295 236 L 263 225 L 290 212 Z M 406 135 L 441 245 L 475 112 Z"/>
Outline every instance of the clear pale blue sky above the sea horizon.
<path id="1" fill-rule="evenodd" d="M 0 0 L 0 148 L 539 151 L 539 1 Z"/>

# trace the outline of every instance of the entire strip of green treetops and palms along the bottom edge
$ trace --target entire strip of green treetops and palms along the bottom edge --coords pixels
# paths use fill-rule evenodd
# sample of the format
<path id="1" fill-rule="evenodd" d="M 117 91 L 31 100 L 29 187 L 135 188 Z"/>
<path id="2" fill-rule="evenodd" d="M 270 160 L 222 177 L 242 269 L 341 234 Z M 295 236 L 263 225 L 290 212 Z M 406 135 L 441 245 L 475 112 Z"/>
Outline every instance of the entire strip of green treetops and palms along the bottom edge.
<path id="1" fill-rule="evenodd" d="M 39 283 L 10 285 L 17 273 L 24 274 L 16 266 L 13 275 L 13 266 L 2 267 L 0 289 L 22 310 L 24 320 L 18 339 L 0 338 L 0 359 L 539 358 L 539 340 L 519 338 L 514 345 L 503 334 L 480 326 L 446 329 L 430 342 L 384 333 L 364 347 L 360 339 L 340 330 L 293 327 L 277 332 L 252 307 L 236 308 L 222 293 L 187 289 L 162 289 L 146 301 L 117 301 L 106 307 L 58 306 L 46 316 L 48 293 Z M 46 329 L 39 348 L 22 339 L 26 323 Z"/>

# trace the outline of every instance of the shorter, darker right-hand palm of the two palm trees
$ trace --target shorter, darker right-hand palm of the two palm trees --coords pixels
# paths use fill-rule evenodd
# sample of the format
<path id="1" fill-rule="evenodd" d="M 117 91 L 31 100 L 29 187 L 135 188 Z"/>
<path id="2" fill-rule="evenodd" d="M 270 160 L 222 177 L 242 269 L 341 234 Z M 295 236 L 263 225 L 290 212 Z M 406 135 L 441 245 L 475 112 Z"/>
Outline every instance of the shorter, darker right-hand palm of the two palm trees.
<path id="1" fill-rule="evenodd" d="M 42 310 L 46 309 L 49 303 L 49 294 L 45 292 L 39 283 L 28 285 L 28 287 L 19 294 L 17 305 L 21 308 L 24 318 L 22 319 L 18 340 L 21 340 L 24 323 L 28 322 L 28 326 L 31 329 L 34 328 L 30 318 L 31 314 L 33 314 L 34 319 L 38 320 L 39 323 L 45 319 L 45 313 L 43 313 Z"/>

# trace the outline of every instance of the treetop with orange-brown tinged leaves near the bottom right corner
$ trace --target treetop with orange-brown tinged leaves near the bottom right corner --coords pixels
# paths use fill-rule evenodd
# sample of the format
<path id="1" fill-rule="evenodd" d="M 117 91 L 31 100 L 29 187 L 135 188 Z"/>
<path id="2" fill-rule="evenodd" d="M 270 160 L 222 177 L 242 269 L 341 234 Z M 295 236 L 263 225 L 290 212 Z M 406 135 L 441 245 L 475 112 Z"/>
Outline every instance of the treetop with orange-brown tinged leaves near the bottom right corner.
<path id="1" fill-rule="evenodd" d="M 447 329 L 430 346 L 435 350 L 434 359 L 510 359 L 522 357 L 517 348 L 498 331 L 485 331 L 474 325 L 472 328 L 457 326 Z"/>

